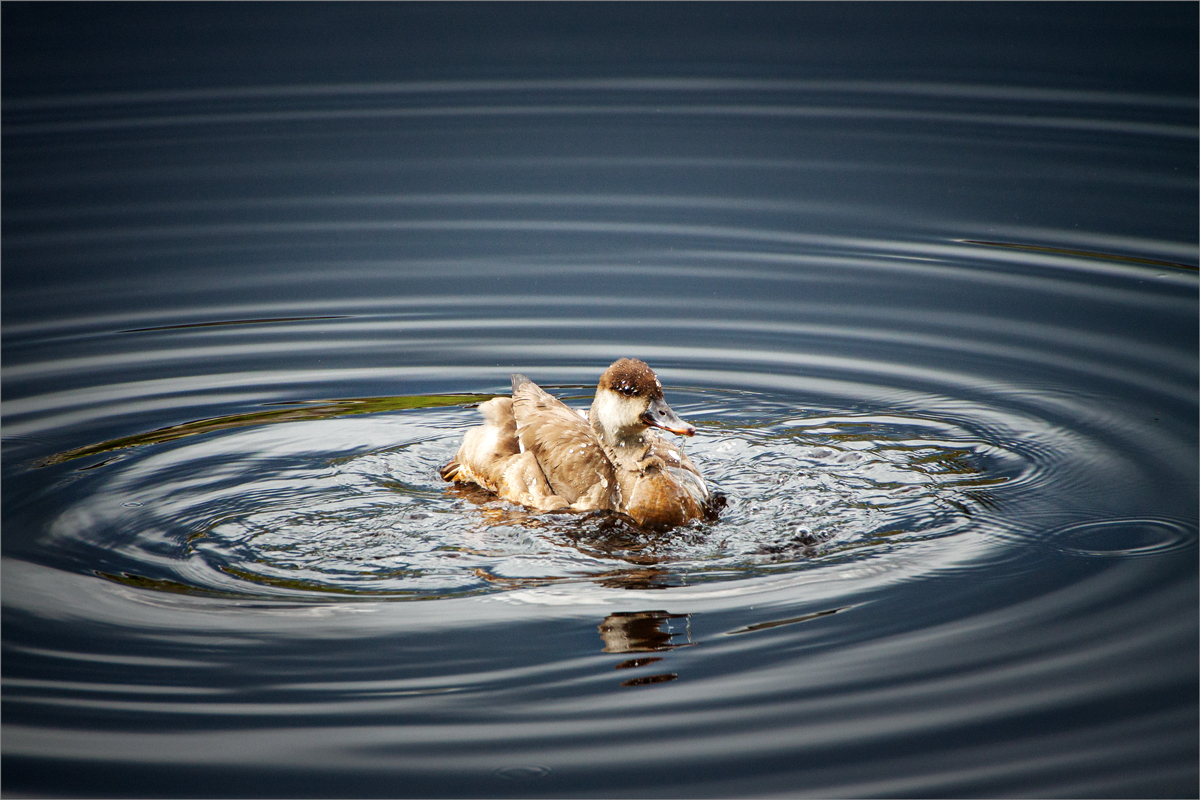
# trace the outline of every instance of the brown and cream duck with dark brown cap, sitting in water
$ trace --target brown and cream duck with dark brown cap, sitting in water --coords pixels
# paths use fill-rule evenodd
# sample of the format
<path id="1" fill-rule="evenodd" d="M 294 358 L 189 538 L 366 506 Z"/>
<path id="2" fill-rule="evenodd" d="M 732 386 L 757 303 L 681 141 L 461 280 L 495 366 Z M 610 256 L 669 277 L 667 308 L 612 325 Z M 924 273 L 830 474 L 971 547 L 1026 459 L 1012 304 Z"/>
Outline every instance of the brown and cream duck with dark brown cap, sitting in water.
<path id="1" fill-rule="evenodd" d="M 587 413 L 575 411 L 521 374 L 512 396 L 479 405 L 486 420 L 463 437 L 442 477 L 476 483 L 540 511 L 611 510 L 667 529 L 715 512 L 718 498 L 682 449 L 650 428 L 684 437 L 646 362 L 614 361 Z"/>

